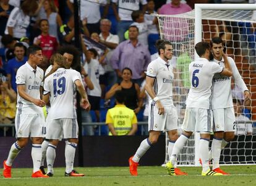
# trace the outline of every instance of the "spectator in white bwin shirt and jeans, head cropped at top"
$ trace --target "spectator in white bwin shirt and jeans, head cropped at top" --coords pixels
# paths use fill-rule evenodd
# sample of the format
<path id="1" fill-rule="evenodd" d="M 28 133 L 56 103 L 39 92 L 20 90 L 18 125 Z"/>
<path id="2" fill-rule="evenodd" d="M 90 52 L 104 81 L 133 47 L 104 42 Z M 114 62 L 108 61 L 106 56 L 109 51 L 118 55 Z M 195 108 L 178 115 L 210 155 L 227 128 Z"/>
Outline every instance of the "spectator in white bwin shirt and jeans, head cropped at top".
<path id="1" fill-rule="evenodd" d="M 137 11 L 140 9 L 140 3 L 142 4 L 143 13 L 147 9 L 147 0 L 134 0 L 134 1 L 122 1 L 122 0 L 112 0 L 112 7 L 114 11 L 114 15 L 117 20 L 117 35 L 119 36 L 120 42 L 124 41 L 124 33 L 130 27 L 132 21 L 132 11 Z M 118 4 L 118 11 L 117 11 Z M 117 13 L 118 12 L 118 13 Z"/>

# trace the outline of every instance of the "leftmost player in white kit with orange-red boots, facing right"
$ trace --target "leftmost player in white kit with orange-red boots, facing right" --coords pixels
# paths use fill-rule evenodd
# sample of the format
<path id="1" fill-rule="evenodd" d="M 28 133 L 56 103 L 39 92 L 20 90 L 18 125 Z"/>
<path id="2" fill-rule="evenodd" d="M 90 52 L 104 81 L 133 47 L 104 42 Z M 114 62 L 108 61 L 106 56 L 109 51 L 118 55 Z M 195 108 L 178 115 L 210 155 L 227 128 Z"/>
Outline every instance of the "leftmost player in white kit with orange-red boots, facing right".
<path id="1" fill-rule="evenodd" d="M 28 61 L 17 70 L 17 111 L 15 129 L 17 141 L 11 146 L 9 155 L 4 161 L 4 177 L 11 177 L 11 166 L 20 150 L 32 140 L 32 177 L 48 177 L 40 171 L 41 143 L 45 132 L 45 117 L 43 109 L 45 101 L 40 99 L 43 86 L 43 70 L 38 65 L 43 61 L 39 46 L 27 49 Z"/>

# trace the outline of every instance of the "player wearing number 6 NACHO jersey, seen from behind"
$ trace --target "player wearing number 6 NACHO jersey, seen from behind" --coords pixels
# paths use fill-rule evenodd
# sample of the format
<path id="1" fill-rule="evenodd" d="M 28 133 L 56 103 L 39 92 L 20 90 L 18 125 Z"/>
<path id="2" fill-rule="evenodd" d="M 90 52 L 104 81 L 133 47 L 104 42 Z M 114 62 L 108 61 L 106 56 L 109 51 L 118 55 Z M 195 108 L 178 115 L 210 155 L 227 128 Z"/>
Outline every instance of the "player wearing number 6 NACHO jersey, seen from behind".
<path id="1" fill-rule="evenodd" d="M 190 90 L 186 100 L 186 112 L 182 124 L 182 135 L 174 144 L 173 154 L 166 166 L 171 175 L 175 175 L 174 164 L 177 155 L 183 148 L 193 132 L 200 132 L 199 154 L 202 159 L 202 175 L 222 175 L 211 171 L 208 164 L 208 146 L 211 131 L 210 96 L 212 78 L 216 73 L 231 76 L 232 71 L 228 59 L 224 56 L 225 68 L 214 62 L 209 62 L 211 54 L 210 44 L 199 42 L 195 45 L 195 51 L 200 58 L 189 64 Z"/>

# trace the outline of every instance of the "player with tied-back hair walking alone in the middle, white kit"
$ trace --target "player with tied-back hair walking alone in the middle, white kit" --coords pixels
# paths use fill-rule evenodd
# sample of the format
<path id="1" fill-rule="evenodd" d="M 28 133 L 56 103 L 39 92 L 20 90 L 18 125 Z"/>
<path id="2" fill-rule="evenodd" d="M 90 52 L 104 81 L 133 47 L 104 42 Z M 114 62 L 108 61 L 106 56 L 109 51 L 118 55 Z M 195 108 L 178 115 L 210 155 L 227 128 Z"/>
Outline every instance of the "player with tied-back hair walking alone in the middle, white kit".
<path id="1" fill-rule="evenodd" d="M 158 141 L 162 131 L 169 136 L 168 154 L 171 155 L 174 143 L 177 140 L 177 111 L 173 104 L 173 66 L 169 59 L 173 57 L 173 46 L 169 41 L 156 41 L 156 48 L 160 57 L 151 61 L 147 67 L 145 89 L 150 96 L 148 106 L 149 137 L 140 143 L 135 155 L 129 158 L 130 174 L 137 175 L 137 166 L 140 158 L 151 145 Z M 184 175 L 179 169 L 177 174 Z"/>

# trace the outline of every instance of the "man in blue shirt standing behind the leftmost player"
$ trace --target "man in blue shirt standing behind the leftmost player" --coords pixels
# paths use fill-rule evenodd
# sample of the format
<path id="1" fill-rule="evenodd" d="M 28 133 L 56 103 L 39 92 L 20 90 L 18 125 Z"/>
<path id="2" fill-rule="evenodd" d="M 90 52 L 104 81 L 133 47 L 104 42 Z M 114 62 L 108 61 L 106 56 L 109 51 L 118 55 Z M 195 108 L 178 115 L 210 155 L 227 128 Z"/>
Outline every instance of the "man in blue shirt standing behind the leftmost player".
<path id="1" fill-rule="evenodd" d="M 14 46 L 15 57 L 8 61 L 7 64 L 7 77 L 9 80 L 9 86 L 17 92 L 16 74 L 20 66 L 23 66 L 27 62 L 28 58 L 25 56 L 25 46 L 22 43 L 16 43 Z"/>

